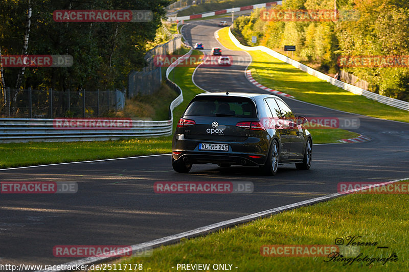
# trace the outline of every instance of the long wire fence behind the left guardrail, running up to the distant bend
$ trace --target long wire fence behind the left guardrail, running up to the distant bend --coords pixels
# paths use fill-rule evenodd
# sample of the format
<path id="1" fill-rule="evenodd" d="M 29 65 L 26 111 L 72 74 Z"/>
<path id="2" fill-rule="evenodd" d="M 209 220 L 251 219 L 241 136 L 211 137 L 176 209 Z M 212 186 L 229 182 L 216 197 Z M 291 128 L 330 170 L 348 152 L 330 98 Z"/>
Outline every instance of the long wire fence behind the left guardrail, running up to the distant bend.
<path id="1" fill-rule="evenodd" d="M 150 50 L 143 71 L 128 74 L 129 98 L 141 94 L 154 94 L 162 85 L 162 69 L 154 65 L 155 55 L 172 54 L 182 45 L 181 35 Z M 6 87 L 4 105 L 0 105 L 0 118 L 58 118 L 58 117 L 109 117 L 110 111 L 125 106 L 125 90 L 37 90 Z"/>

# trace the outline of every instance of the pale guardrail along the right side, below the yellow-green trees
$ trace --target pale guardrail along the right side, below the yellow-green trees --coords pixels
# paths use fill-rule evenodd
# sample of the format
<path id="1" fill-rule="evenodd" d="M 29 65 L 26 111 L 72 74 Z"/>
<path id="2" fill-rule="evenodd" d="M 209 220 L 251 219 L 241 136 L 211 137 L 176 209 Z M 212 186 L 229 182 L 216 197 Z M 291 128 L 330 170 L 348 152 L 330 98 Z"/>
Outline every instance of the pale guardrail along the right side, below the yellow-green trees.
<path id="1" fill-rule="evenodd" d="M 361 89 L 361 88 L 356 87 L 354 85 L 351 85 L 351 84 L 336 80 L 336 79 L 334 79 L 334 78 L 332 78 L 330 76 L 325 75 L 325 73 L 314 70 L 311 67 L 308 67 L 308 66 L 306 66 L 306 65 L 304 65 L 304 64 L 302 64 L 302 63 L 300 63 L 300 62 L 298 62 L 296 60 L 290 59 L 287 56 L 285 56 L 283 54 L 280 54 L 280 53 L 278 53 L 278 52 L 276 52 L 274 50 L 271 50 L 268 47 L 265 47 L 265 46 L 262 46 L 262 45 L 259 45 L 259 46 L 245 46 L 245 45 L 242 45 L 237 40 L 237 38 L 233 35 L 230 28 L 229 28 L 229 37 L 231 38 L 231 40 L 233 41 L 233 43 L 237 47 L 239 47 L 239 48 L 241 48 L 243 50 L 247 50 L 247 51 L 260 50 L 260 51 L 262 51 L 264 53 L 267 53 L 268 55 L 270 55 L 272 57 L 275 57 L 275 58 L 277 58 L 277 59 L 279 59 L 281 61 L 284 61 L 284 62 L 286 62 L 286 63 L 288 63 L 288 64 L 290 64 L 290 65 L 292 65 L 292 66 L 294 66 L 296 68 L 299 68 L 300 70 L 305 71 L 305 72 L 309 73 L 310 75 L 312 75 L 312 76 L 314 76 L 316 78 L 325 80 L 328 83 L 330 83 L 330 84 L 332 84 L 332 85 L 334 85 L 336 87 L 343 88 L 344 90 L 350 91 L 350 92 L 358 94 L 358 95 L 363 95 L 363 96 L 365 96 L 365 97 L 367 97 L 369 99 L 375 100 L 375 101 L 380 102 L 380 103 L 385 104 L 385 105 L 389 105 L 389 106 L 392 106 L 392 107 L 395 107 L 395 108 L 398 108 L 398 109 L 409 111 L 409 102 L 405 102 L 405 101 L 401 101 L 401 100 L 398 100 L 398 99 L 395 99 L 395 98 L 383 96 L 383 95 L 380 95 L 380 94 L 377 94 L 377 93 L 374 93 L 374 92 L 370 92 L 370 91 Z"/>

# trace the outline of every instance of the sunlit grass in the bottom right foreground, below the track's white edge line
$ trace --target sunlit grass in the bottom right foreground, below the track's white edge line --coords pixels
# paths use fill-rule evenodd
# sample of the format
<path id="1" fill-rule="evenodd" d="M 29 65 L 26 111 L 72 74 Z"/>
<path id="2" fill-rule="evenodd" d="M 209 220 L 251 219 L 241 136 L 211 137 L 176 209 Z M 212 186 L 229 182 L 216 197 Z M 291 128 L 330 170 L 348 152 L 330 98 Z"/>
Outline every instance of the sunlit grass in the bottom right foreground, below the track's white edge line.
<path id="1" fill-rule="evenodd" d="M 178 244 L 153 250 L 151 257 L 122 258 L 118 263 L 143 264 L 148 271 L 175 271 L 178 263 L 229 263 L 237 271 L 408 271 L 407 201 L 407 194 L 347 195 L 207 236 L 183 239 Z M 347 242 L 348 236 L 361 236 L 358 241 L 377 243 L 358 246 L 361 258 L 366 255 L 388 258 L 396 254 L 398 260 L 384 265 L 376 261 L 344 265 L 342 261 L 325 262 L 330 260 L 328 257 L 260 255 L 262 245 L 333 245 L 337 238 Z M 377 246 L 389 248 L 377 249 Z"/>

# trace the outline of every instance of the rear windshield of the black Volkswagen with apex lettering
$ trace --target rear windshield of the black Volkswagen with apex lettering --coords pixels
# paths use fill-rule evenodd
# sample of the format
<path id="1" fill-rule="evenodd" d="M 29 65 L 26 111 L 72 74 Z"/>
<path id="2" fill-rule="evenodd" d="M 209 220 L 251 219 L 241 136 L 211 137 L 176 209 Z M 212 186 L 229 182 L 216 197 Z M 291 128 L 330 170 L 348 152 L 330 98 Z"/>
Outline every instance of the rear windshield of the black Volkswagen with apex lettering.
<path id="1" fill-rule="evenodd" d="M 257 118 L 253 101 L 246 97 L 196 97 L 185 111 L 185 115 L 194 116 L 236 116 Z"/>

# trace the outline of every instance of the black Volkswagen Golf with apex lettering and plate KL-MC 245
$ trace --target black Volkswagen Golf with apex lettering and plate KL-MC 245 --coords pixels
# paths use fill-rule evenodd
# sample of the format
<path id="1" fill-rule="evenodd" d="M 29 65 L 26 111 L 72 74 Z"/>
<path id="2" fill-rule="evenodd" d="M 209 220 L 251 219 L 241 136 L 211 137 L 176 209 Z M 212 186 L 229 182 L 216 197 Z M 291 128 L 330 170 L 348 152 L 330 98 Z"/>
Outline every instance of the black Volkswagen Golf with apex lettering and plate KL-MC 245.
<path id="1" fill-rule="evenodd" d="M 312 137 L 307 119 L 293 114 L 280 97 L 257 93 L 196 95 L 177 123 L 172 166 L 189 172 L 193 164 L 258 165 L 276 175 L 279 164 L 311 166 Z"/>

